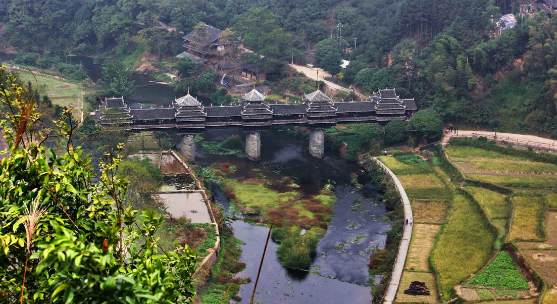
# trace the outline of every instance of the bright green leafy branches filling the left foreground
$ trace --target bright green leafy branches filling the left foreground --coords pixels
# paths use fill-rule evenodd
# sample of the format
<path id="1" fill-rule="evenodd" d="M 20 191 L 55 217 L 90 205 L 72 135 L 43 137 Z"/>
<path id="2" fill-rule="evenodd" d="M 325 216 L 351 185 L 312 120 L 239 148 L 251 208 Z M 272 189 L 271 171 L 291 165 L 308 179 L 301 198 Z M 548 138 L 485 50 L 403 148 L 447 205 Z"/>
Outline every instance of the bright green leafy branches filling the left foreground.
<path id="1" fill-rule="evenodd" d="M 118 178 L 122 145 L 96 175 L 72 146 L 65 111 L 38 131 L 34 95 L 0 67 L 1 122 L 8 154 L 0 163 L 0 268 L 6 303 L 193 303 L 196 252 L 159 248 L 163 217 L 126 207 Z M 56 153 L 44 143 L 62 139 Z M 95 179 L 95 181 L 94 181 Z M 124 237 L 125 236 L 125 237 Z"/>

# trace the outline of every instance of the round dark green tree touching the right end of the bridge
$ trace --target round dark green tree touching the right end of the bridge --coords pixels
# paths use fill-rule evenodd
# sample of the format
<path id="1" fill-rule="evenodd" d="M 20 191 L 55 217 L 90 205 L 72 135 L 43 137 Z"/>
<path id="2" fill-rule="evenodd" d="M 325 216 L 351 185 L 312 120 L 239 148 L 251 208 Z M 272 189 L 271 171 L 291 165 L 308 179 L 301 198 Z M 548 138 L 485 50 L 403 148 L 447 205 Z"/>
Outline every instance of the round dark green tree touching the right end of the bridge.
<path id="1" fill-rule="evenodd" d="M 416 133 L 423 143 L 441 139 L 443 135 L 443 121 L 437 111 L 433 109 L 420 110 L 412 117 L 406 127 L 410 133 Z"/>

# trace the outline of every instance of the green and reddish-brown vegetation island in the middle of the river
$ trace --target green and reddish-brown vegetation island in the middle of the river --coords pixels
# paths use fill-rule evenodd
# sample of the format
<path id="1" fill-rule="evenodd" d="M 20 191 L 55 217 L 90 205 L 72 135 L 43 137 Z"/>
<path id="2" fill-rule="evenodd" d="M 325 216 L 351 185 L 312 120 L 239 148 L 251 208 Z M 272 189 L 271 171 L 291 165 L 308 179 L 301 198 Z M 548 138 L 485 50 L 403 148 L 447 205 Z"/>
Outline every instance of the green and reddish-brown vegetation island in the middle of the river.
<path id="1" fill-rule="evenodd" d="M 310 267 L 317 243 L 333 218 L 336 197 L 331 190 L 305 195 L 290 178 L 222 179 L 220 185 L 234 205 L 233 212 L 261 214 L 263 222 L 273 223 L 272 238 L 281 243 L 277 256 L 284 266 Z M 300 235 L 302 228 L 306 233 Z"/>

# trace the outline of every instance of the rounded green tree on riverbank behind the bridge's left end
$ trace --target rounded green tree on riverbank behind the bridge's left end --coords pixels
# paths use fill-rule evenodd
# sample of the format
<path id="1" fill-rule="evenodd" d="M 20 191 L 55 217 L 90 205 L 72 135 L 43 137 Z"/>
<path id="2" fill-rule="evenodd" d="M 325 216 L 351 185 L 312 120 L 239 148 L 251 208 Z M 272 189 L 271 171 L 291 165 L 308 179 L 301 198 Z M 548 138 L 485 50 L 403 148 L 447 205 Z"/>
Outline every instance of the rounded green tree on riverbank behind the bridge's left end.
<path id="1" fill-rule="evenodd" d="M 101 86 L 106 94 L 131 97 L 135 94 L 135 80 L 131 71 L 118 61 L 111 61 L 102 71 Z"/>

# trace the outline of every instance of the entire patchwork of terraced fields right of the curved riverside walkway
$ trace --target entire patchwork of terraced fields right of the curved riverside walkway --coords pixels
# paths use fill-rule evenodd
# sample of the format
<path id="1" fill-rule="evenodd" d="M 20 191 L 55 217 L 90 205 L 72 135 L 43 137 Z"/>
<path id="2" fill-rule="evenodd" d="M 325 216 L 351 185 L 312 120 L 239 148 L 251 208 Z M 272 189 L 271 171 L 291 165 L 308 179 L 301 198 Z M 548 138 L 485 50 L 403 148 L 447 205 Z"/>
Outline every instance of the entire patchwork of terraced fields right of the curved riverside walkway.
<path id="1" fill-rule="evenodd" d="M 379 158 L 414 216 L 394 302 L 557 303 L 557 158 L 475 139 L 456 140 L 446 153 Z"/>

